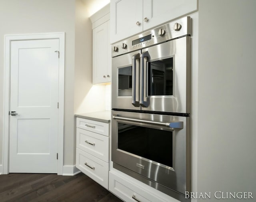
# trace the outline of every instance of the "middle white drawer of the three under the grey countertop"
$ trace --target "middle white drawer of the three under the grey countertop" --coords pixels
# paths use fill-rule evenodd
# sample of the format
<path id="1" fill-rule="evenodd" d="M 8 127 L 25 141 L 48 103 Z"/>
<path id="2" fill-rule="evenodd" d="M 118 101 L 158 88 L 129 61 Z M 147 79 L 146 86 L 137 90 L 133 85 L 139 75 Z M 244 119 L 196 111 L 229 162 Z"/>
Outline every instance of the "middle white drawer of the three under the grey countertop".
<path id="1" fill-rule="evenodd" d="M 109 137 L 76 128 L 76 147 L 109 162 Z"/>

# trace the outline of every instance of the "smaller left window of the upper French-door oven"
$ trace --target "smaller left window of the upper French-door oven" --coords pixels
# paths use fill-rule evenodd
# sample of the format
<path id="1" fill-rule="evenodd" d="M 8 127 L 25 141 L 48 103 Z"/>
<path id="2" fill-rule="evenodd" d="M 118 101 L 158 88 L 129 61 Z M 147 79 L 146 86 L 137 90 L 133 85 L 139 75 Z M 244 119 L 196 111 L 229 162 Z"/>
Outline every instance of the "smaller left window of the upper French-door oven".
<path id="1" fill-rule="evenodd" d="M 118 96 L 132 96 L 132 66 L 118 69 Z"/>

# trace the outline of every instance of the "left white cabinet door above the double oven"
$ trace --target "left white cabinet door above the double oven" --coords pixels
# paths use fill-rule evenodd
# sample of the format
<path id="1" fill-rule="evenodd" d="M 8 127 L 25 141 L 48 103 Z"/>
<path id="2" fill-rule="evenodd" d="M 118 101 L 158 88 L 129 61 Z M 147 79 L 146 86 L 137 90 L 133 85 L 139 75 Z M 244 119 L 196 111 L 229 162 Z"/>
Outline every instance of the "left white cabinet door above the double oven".
<path id="1" fill-rule="evenodd" d="M 143 30 L 143 0 L 110 1 L 110 42 L 128 38 Z M 138 25 L 136 23 L 138 22 Z"/>

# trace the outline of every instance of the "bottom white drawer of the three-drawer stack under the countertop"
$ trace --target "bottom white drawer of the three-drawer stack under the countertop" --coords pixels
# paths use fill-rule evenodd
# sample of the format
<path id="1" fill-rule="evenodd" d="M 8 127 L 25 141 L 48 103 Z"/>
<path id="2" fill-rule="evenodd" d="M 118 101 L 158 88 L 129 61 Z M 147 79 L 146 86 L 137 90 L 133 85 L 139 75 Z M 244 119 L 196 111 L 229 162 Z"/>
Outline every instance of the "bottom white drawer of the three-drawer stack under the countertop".
<path id="1" fill-rule="evenodd" d="M 108 189 L 108 163 L 76 148 L 76 167 L 95 182 Z"/>

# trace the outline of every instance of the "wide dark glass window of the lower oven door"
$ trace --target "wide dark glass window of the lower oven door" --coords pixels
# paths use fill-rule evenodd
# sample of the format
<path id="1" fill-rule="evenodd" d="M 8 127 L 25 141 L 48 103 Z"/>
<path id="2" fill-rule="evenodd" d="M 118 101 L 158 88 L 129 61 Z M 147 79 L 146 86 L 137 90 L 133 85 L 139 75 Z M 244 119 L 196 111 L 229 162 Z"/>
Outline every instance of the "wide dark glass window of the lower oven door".
<path id="1" fill-rule="evenodd" d="M 118 123 L 118 149 L 172 167 L 172 131 Z"/>

